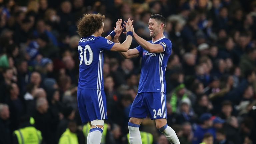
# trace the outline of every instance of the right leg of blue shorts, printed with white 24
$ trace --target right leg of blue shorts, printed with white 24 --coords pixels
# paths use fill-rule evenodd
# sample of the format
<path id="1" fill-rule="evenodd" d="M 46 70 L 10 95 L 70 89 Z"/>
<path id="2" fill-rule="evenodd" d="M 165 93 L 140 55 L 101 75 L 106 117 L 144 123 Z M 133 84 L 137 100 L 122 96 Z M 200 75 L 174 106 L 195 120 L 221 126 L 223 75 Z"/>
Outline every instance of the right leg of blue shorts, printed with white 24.
<path id="1" fill-rule="evenodd" d="M 163 92 L 150 92 L 146 99 L 150 118 L 166 118 L 166 95 Z"/>

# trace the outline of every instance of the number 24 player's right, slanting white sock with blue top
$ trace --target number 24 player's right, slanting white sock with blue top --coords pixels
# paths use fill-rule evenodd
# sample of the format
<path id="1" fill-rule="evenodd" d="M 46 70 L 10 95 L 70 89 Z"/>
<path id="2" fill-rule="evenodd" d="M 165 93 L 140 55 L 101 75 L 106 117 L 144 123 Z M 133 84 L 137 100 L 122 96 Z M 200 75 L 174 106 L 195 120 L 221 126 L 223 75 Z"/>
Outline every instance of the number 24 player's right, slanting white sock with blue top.
<path id="1" fill-rule="evenodd" d="M 171 127 L 169 127 L 167 124 L 161 127 L 159 131 L 162 132 L 172 144 L 180 144 L 180 141 L 175 131 Z"/>

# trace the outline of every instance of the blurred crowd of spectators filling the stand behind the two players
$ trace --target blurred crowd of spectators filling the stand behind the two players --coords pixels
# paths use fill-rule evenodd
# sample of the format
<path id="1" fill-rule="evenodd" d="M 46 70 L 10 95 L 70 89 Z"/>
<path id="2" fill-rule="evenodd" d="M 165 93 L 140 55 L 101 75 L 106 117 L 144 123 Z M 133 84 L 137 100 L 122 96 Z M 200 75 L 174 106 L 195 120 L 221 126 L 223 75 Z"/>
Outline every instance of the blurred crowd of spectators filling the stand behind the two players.
<path id="1" fill-rule="evenodd" d="M 70 133 L 85 143 L 76 24 L 86 13 L 106 16 L 103 37 L 118 18 L 131 18 L 146 40 L 149 16 L 165 16 L 164 35 L 172 42 L 167 122 L 181 144 L 256 144 L 255 0 L 0 0 L 0 144 L 19 141 L 15 130 L 28 125 L 46 144 Z M 131 48 L 137 46 L 133 41 Z M 105 51 L 103 75 L 108 120 L 102 143 L 128 143 L 140 58 Z M 169 143 L 150 118 L 140 130 L 153 137 L 150 143 Z"/>

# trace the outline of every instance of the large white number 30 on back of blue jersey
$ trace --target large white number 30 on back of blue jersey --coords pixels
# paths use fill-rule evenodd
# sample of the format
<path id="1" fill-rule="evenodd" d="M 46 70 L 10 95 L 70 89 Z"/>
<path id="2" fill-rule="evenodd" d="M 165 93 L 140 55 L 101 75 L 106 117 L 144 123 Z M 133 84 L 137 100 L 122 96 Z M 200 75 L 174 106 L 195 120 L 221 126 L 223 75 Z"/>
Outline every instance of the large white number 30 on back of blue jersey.
<path id="1" fill-rule="evenodd" d="M 80 65 L 82 64 L 83 60 L 85 65 L 90 65 L 92 63 L 92 59 L 93 59 L 93 53 L 92 53 L 92 49 L 89 45 L 86 45 L 84 48 L 84 54 L 83 54 L 83 48 L 82 46 L 78 46 L 78 50 L 80 50 Z M 89 60 L 87 60 L 87 50 L 89 52 Z"/>

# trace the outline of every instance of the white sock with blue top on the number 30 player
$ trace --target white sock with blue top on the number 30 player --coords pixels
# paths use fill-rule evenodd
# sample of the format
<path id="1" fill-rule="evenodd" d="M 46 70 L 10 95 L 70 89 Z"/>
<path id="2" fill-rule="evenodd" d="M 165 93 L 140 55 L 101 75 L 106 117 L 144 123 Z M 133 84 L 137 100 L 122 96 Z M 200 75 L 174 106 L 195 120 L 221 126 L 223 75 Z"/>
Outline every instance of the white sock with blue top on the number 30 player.
<path id="1" fill-rule="evenodd" d="M 101 136 L 102 136 L 102 129 L 101 128 L 92 128 L 90 129 L 90 138 L 89 144 L 100 144 Z"/>

